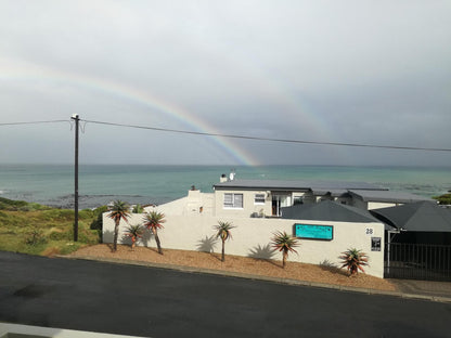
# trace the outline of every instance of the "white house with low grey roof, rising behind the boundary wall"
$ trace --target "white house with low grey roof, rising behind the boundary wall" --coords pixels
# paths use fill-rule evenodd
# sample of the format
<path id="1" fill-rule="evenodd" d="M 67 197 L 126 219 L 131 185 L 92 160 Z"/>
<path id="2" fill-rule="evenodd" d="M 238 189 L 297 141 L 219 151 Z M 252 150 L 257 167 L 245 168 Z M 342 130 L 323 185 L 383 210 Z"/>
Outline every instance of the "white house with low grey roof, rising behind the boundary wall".
<path id="1" fill-rule="evenodd" d="M 364 210 L 430 200 L 365 182 L 224 180 L 214 185 L 216 216 L 280 217 L 283 207 L 335 200 Z"/>

